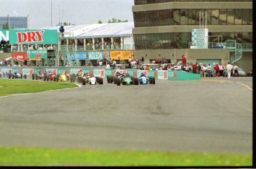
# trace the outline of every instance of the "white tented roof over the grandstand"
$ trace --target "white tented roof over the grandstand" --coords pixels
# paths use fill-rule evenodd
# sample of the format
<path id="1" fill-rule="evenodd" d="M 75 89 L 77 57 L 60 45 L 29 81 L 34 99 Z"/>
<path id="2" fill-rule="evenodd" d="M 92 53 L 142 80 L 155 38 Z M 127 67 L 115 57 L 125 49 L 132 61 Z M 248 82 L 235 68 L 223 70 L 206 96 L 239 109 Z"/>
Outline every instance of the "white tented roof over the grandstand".
<path id="1" fill-rule="evenodd" d="M 134 22 L 120 22 L 111 24 L 82 24 L 64 26 L 65 37 L 75 38 L 104 38 L 127 37 L 132 35 Z M 42 27 L 39 30 L 58 30 L 58 27 Z"/>

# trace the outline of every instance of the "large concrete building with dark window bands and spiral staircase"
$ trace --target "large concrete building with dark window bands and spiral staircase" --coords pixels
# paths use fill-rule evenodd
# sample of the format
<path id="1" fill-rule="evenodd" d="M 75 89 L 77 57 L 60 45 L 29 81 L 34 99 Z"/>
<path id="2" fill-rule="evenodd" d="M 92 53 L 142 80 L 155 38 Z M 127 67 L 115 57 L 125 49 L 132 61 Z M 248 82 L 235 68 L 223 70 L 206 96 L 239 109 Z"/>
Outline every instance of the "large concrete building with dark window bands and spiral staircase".
<path id="1" fill-rule="evenodd" d="M 252 0 L 134 0 L 132 11 L 135 56 L 252 69 Z"/>

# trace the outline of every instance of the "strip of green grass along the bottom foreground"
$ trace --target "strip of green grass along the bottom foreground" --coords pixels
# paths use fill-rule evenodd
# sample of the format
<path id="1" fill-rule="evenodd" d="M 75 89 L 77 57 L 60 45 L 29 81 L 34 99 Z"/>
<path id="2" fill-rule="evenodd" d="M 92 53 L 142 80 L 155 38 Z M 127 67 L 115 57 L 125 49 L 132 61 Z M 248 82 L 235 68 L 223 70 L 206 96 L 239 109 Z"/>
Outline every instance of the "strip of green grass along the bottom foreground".
<path id="1" fill-rule="evenodd" d="M 0 165 L 252 166 L 252 155 L 0 147 Z"/>

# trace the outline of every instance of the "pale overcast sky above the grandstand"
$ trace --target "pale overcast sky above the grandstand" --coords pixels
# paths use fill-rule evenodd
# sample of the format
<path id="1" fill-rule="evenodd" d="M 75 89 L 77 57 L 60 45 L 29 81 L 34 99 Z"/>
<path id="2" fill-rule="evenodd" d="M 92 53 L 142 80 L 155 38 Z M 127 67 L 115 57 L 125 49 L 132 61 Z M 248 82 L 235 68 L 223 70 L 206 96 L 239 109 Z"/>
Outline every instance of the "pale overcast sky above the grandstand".
<path id="1" fill-rule="evenodd" d="M 59 21 L 70 24 L 108 23 L 112 18 L 134 21 L 133 5 L 134 0 L 0 0 L 0 16 L 29 15 L 28 28 L 39 29 L 55 27 Z"/>

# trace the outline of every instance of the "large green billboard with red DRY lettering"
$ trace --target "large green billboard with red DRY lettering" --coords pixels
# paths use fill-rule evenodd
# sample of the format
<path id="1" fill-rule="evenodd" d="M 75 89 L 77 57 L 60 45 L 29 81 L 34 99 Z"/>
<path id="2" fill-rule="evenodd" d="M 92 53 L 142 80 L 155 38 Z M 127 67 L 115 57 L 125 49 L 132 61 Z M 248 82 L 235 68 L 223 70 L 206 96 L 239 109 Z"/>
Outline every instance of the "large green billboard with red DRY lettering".
<path id="1" fill-rule="evenodd" d="M 5 35 L 9 44 L 58 44 L 57 30 L 6 30 Z"/>

